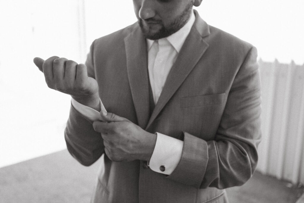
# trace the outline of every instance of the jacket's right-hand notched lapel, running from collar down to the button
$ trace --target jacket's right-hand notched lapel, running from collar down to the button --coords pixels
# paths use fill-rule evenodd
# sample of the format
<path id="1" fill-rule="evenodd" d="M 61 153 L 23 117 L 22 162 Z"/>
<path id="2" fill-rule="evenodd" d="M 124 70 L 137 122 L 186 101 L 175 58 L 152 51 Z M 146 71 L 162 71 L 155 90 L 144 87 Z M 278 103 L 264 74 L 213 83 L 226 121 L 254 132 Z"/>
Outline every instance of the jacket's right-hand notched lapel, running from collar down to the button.
<path id="1" fill-rule="evenodd" d="M 209 26 L 199 17 L 196 11 L 195 16 L 195 23 L 171 68 L 146 129 L 149 128 L 166 103 L 181 86 L 209 46 L 203 40 L 203 37 L 210 34 Z"/>

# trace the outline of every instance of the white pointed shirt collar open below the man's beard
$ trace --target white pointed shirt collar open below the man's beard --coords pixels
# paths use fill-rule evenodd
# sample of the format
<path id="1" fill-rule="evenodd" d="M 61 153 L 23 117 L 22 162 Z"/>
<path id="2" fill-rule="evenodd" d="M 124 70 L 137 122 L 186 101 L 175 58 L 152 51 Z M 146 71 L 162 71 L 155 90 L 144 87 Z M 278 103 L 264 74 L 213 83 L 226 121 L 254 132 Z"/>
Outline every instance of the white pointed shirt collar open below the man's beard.
<path id="1" fill-rule="evenodd" d="M 191 16 L 188 20 L 188 22 L 179 29 L 176 33 L 171 34 L 170 36 L 166 37 L 166 39 L 170 42 L 170 44 L 174 47 L 174 49 L 179 53 L 181 50 L 181 47 L 183 46 L 188 34 L 190 33 L 190 30 L 194 24 L 195 21 L 195 15 L 192 9 Z M 148 51 L 151 49 L 152 45 L 154 43 L 154 40 L 147 39 L 147 48 Z"/>

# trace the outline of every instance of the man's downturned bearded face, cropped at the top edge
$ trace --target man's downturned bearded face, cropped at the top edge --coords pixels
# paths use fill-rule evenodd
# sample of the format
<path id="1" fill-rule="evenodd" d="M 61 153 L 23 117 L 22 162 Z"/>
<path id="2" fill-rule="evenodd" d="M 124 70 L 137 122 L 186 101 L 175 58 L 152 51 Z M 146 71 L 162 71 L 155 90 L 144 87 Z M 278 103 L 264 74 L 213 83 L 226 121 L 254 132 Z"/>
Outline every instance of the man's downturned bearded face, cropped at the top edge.
<path id="1" fill-rule="evenodd" d="M 188 21 L 194 0 L 133 0 L 144 36 L 150 40 L 168 37 Z"/>

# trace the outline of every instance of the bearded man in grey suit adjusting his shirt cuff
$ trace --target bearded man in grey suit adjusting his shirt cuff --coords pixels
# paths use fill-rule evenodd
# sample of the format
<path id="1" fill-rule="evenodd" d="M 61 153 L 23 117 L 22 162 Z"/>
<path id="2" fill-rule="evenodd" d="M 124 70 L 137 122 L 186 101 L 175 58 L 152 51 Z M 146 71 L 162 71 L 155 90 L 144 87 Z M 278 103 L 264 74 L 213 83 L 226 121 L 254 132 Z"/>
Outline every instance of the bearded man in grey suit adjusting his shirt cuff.
<path id="1" fill-rule="evenodd" d="M 92 202 L 227 202 L 253 174 L 256 49 L 207 25 L 201 1 L 133 0 L 138 23 L 95 40 L 85 65 L 34 59 L 72 96 L 71 155 L 102 159 Z"/>

